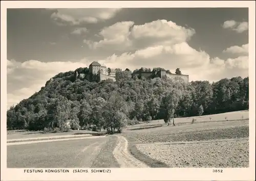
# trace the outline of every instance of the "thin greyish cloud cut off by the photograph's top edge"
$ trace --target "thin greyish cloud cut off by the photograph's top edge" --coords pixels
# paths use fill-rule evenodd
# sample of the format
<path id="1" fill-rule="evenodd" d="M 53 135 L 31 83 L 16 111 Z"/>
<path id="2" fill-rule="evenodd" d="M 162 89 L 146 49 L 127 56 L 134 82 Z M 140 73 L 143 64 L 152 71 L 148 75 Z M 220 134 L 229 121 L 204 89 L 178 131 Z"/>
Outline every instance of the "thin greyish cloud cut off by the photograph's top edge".
<path id="1" fill-rule="evenodd" d="M 51 18 L 58 25 L 78 25 L 81 23 L 97 23 L 111 19 L 119 12 L 120 8 L 72 8 L 56 9 Z"/>

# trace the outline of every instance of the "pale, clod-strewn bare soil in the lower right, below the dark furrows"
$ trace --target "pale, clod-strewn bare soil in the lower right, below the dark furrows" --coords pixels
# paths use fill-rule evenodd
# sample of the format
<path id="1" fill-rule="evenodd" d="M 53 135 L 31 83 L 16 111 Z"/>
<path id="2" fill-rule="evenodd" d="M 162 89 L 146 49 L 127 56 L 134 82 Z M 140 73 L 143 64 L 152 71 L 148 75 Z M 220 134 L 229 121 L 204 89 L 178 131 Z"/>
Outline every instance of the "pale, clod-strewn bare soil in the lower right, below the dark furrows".
<path id="1" fill-rule="evenodd" d="M 249 167 L 249 141 L 143 145 L 137 149 L 169 167 Z"/>

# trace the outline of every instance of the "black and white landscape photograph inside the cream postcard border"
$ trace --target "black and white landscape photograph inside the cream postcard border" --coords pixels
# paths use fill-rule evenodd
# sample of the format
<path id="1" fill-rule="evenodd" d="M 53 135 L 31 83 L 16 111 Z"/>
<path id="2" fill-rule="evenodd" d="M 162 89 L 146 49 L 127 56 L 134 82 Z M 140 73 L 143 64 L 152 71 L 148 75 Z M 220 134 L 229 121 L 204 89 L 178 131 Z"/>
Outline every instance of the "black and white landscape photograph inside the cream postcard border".
<path id="1" fill-rule="evenodd" d="M 6 18 L 7 169 L 249 168 L 248 7 Z"/>

